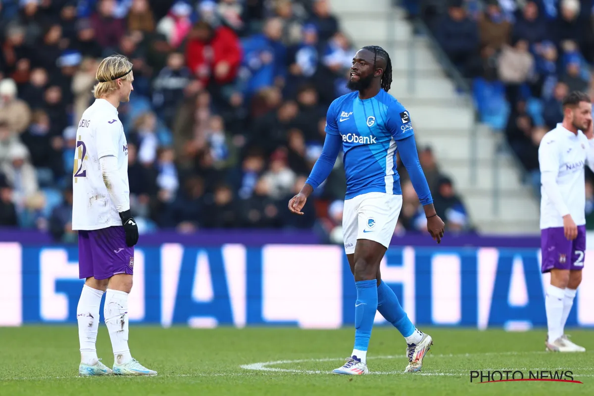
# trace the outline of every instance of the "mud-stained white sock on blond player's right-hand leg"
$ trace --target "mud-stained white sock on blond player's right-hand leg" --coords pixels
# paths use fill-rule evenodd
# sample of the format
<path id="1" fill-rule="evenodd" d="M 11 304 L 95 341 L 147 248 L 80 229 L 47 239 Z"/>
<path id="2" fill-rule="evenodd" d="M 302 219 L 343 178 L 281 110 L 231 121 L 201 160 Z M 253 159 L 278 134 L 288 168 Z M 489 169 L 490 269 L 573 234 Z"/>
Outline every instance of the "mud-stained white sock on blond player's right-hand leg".
<path id="1" fill-rule="evenodd" d="M 132 360 L 128 348 L 128 293 L 108 289 L 104 315 L 112 341 L 113 360 L 116 365 L 128 363 Z"/>

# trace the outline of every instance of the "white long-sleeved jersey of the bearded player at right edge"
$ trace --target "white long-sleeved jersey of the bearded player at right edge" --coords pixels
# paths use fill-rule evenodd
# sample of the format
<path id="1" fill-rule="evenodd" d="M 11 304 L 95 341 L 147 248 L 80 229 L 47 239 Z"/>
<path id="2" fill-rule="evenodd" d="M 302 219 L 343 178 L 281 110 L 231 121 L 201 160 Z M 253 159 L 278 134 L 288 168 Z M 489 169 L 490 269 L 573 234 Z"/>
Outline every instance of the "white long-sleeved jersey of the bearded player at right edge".
<path id="1" fill-rule="evenodd" d="M 558 124 L 539 145 L 541 172 L 553 172 L 563 202 L 577 226 L 586 224 L 585 172 L 588 151 L 593 150 L 582 131 L 577 135 Z M 541 229 L 563 227 L 563 217 L 541 187 Z"/>

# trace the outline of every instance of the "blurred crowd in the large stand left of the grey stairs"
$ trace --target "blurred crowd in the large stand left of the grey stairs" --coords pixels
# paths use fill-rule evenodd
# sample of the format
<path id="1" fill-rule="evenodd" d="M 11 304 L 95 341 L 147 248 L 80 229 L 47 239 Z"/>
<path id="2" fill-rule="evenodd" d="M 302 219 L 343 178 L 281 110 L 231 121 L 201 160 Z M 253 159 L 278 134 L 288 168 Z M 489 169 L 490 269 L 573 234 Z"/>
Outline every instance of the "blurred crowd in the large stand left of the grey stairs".
<path id="1" fill-rule="evenodd" d="M 77 124 L 93 102 L 98 62 L 117 52 L 134 64 L 134 93 L 118 112 L 141 233 L 316 229 L 342 243 L 341 156 L 304 216 L 286 210 L 320 155 L 327 106 L 349 92 L 356 49 L 327 0 L 3 0 L 0 7 L 0 226 L 76 240 Z M 467 229 L 464 205 L 431 148 L 420 154 L 438 213 L 450 230 Z M 396 232 L 422 230 L 422 208 L 399 171 L 405 204 Z"/>

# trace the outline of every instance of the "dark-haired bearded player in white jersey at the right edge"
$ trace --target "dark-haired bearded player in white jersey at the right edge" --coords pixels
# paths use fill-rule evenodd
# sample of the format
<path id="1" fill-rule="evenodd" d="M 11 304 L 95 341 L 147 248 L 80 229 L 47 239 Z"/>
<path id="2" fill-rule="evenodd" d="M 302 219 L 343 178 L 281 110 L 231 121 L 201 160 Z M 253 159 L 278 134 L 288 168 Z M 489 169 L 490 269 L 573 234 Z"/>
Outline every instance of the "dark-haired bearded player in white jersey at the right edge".
<path id="1" fill-rule="evenodd" d="M 545 308 L 546 350 L 583 352 L 564 333 L 586 251 L 584 164 L 594 170 L 592 103 L 582 92 L 563 100 L 563 123 L 548 132 L 538 149 L 541 169 L 542 273 L 551 273 Z"/>

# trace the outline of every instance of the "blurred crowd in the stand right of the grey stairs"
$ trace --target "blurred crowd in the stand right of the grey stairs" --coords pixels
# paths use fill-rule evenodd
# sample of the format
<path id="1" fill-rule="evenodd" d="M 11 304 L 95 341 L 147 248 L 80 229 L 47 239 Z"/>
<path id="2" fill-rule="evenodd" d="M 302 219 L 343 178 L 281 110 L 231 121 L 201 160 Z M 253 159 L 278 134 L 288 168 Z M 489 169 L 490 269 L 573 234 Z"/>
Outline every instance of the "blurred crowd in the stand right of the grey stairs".
<path id="1" fill-rule="evenodd" d="M 563 120 L 563 98 L 583 91 L 594 99 L 594 1 L 403 1 L 472 80 L 481 120 L 504 131 L 539 197 L 538 146 Z M 594 217 L 587 173 L 587 210 Z"/>

